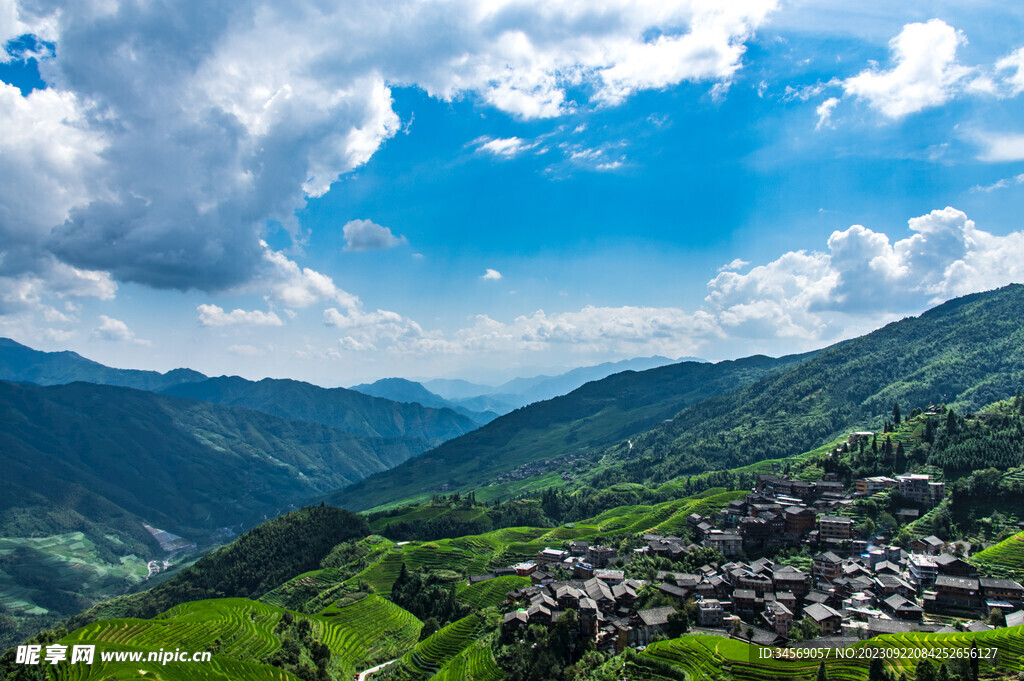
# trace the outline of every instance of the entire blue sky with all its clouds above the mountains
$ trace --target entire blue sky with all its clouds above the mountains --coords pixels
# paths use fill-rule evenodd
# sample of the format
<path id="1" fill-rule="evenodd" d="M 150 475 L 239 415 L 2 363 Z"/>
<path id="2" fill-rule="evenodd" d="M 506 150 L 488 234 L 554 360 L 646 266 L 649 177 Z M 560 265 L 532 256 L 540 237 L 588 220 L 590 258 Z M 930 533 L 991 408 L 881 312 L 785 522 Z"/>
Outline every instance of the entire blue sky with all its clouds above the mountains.
<path id="1" fill-rule="evenodd" d="M 718 4 L 7 3 L 0 333 L 499 381 L 1024 280 L 1024 10 Z"/>

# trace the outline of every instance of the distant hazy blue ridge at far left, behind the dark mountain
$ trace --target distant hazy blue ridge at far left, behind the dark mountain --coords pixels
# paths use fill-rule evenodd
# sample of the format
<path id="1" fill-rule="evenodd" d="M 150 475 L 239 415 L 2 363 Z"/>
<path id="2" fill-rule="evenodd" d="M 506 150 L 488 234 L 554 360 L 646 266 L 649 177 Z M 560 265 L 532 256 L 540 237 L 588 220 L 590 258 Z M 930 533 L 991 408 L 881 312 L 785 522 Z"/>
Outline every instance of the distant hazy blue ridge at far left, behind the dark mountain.
<path id="1" fill-rule="evenodd" d="M 37 385 L 63 385 L 76 381 L 120 385 L 139 390 L 163 390 L 179 383 L 205 380 L 190 369 L 175 369 L 161 374 L 134 369 L 112 369 L 86 359 L 77 352 L 43 352 L 0 338 L 0 380 Z"/>

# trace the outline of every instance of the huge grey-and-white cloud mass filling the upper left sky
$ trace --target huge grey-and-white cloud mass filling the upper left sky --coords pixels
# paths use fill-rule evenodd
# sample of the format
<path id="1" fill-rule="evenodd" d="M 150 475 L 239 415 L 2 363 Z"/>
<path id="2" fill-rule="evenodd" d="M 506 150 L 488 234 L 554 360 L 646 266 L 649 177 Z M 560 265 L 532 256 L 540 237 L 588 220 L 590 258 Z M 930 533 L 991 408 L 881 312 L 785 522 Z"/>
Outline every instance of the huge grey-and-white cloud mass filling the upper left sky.
<path id="1" fill-rule="evenodd" d="M 150 287 L 237 288 L 265 273 L 268 220 L 300 235 L 296 211 L 402 129 L 393 85 L 521 119 L 724 85 L 777 5 L 9 0 L 3 42 L 56 48 L 47 89 L 0 85 L 0 237 L 19 251 L 3 266 L 42 274 L 55 256 Z"/>

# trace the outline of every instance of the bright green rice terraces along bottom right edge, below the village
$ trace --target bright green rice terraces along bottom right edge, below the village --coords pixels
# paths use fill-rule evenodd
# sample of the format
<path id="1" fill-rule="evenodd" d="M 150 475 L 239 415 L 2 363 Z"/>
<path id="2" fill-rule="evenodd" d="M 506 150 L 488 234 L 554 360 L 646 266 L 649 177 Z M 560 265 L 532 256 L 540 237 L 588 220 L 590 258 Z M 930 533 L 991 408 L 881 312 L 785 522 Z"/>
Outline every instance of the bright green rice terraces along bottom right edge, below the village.
<path id="1" fill-rule="evenodd" d="M 935 650 L 937 653 L 962 649 L 997 648 L 995 667 L 1000 672 L 1024 671 L 1024 627 L 996 629 L 987 632 L 957 634 L 894 634 L 880 636 L 852 646 L 853 656 L 840 658 L 833 655 L 825 659 L 828 678 L 839 681 L 863 681 L 867 678 L 869 656 L 858 656 L 859 649 L 886 648 L 899 652 L 883 655 L 886 665 L 895 675 L 906 673 L 913 678 L 916 661 L 912 650 Z M 779 678 L 793 681 L 813 681 L 820 659 L 783 661 L 761 659 L 758 646 L 751 646 L 718 636 L 684 636 L 671 641 L 653 643 L 639 657 L 651 658 L 680 668 L 693 681 L 724 678 L 728 673 L 735 681 L 775 681 Z M 934 658 L 933 658 L 934 659 Z M 988 665 L 982 662 L 984 670 Z"/>

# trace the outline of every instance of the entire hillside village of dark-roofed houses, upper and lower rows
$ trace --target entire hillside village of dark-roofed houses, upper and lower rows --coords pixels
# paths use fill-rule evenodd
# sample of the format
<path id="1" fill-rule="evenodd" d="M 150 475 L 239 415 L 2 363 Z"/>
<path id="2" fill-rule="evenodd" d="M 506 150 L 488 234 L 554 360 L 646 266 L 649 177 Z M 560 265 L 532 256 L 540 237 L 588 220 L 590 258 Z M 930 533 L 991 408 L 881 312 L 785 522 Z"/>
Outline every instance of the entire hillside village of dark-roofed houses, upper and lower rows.
<path id="1" fill-rule="evenodd" d="M 718 549 L 728 562 L 705 565 L 694 573 L 658 572 L 650 587 L 674 606 L 636 609 L 646 583 L 609 568 L 635 554 L 676 561 L 697 548 L 695 542 L 674 536 L 644 535 L 643 546 L 622 557 L 611 547 L 569 542 L 540 551 L 534 561 L 472 579 L 529 577 L 530 586 L 508 594 L 513 609 L 505 614 L 505 628 L 550 626 L 573 609 L 581 636 L 593 637 L 604 650 L 644 645 L 668 633 L 670 615 L 684 605 L 695 615 L 693 627 L 731 632 L 766 645 L 785 644 L 804 620 L 813 622 L 821 636 L 850 640 L 883 633 L 951 631 L 931 615 L 985 618 L 993 608 L 1006 613 L 1008 626 L 1024 624 L 1024 587 L 1012 580 L 980 577 L 938 538 L 914 540 L 908 550 L 855 538 L 853 519 L 839 512 L 857 498 L 887 488 L 923 505 L 936 503 L 943 494 L 941 482 L 920 474 L 857 480 L 852 494 L 827 477 L 808 482 L 759 476 L 751 494 L 731 502 L 716 517 L 687 518 L 695 542 Z M 769 558 L 739 559 L 806 545 L 819 551 L 810 571 Z M 571 577 L 559 580 L 556 573 Z M 979 621 L 971 628 L 988 625 Z"/>

